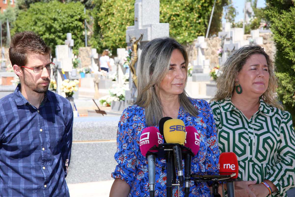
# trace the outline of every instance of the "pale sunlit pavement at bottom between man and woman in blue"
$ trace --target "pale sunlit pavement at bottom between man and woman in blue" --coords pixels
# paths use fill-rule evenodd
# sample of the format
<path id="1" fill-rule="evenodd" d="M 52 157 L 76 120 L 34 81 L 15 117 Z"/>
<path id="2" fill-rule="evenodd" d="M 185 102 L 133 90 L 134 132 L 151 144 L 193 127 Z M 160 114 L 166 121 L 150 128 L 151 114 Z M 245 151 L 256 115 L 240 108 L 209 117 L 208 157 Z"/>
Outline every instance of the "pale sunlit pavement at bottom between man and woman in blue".
<path id="1" fill-rule="evenodd" d="M 71 197 L 109 197 L 114 180 L 69 184 Z"/>

